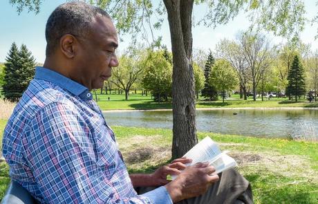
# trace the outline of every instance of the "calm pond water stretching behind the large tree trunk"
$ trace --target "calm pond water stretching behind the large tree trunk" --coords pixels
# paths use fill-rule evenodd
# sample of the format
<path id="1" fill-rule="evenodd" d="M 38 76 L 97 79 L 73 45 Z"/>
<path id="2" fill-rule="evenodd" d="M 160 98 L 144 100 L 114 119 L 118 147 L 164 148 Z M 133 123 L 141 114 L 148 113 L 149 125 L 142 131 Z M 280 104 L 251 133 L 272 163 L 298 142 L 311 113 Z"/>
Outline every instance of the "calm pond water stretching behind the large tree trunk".
<path id="1" fill-rule="evenodd" d="M 198 131 L 243 136 L 318 135 L 317 109 L 214 109 L 196 111 Z M 172 129 L 172 111 L 104 112 L 110 125 Z"/>

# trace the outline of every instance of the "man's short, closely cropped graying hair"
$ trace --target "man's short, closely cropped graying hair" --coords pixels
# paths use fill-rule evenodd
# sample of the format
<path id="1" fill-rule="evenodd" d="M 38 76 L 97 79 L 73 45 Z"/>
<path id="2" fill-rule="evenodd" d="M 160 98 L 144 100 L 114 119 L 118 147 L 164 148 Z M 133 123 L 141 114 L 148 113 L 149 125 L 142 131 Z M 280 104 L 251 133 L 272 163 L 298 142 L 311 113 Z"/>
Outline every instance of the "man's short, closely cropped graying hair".
<path id="1" fill-rule="evenodd" d="M 55 8 L 46 22 L 46 57 L 54 52 L 62 36 L 85 37 L 97 15 L 111 19 L 104 10 L 81 1 L 63 3 Z"/>

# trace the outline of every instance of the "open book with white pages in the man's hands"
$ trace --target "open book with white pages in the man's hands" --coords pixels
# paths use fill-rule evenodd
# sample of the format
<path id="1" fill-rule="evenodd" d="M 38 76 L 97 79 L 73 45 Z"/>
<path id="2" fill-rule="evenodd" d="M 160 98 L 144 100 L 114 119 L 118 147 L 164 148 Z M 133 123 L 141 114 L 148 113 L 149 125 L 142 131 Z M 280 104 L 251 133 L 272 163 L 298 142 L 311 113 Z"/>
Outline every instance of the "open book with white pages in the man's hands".
<path id="1" fill-rule="evenodd" d="M 187 166 L 208 162 L 209 165 L 214 166 L 216 169 L 213 174 L 221 173 L 222 171 L 236 167 L 237 165 L 234 158 L 228 156 L 227 152 L 228 151 L 221 152 L 218 145 L 216 145 L 216 142 L 211 138 L 206 137 L 185 154 L 185 157 L 192 159 L 192 163 L 187 164 Z M 171 176 L 172 180 L 176 177 L 177 176 Z"/>

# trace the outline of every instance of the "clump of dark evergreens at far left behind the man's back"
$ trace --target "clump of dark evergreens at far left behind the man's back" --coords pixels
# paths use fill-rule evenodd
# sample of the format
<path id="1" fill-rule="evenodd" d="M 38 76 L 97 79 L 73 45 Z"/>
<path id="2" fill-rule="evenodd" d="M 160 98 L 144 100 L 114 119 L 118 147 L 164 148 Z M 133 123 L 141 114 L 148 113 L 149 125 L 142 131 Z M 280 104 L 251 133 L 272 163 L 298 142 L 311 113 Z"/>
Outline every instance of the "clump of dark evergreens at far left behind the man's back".
<path id="1" fill-rule="evenodd" d="M 22 45 L 20 50 L 13 43 L 4 67 L 3 95 L 17 102 L 35 75 L 35 59 L 32 53 Z"/>

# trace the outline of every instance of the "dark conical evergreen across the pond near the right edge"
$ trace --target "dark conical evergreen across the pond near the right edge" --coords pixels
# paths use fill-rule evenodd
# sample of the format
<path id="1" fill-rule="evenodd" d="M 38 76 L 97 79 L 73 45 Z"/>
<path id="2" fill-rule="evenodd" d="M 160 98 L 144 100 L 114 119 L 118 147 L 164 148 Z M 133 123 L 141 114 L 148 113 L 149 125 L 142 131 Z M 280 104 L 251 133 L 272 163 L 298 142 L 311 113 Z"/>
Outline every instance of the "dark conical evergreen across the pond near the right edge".
<path id="1" fill-rule="evenodd" d="M 305 74 L 303 70 L 303 65 L 299 62 L 298 55 L 294 56 L 292 61 L 292 67 L 288 71 L 288 85 L 286 88 L 286 95 L 297 98 L 306 93 L 306 84 L 305 84 Z"/>

